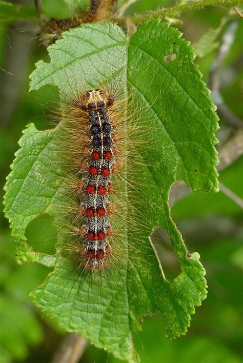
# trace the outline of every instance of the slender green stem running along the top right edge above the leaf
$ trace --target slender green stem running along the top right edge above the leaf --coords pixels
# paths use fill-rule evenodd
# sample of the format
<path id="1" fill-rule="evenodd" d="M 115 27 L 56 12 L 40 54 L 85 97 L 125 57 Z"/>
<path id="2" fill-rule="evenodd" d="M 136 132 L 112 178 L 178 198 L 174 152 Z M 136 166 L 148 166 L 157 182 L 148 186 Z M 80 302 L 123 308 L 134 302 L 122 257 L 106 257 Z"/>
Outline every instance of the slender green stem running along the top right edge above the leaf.
<path id="1" fill-rule="evenodd" d="M 131 23 L 139 24 L 145 23 L 152 19 L 173 17 L 184 11 L 197 10 L 206 6 L 221 6 L 224 8 L 235 7 L 236 5 L 242 4 L 242 0 L 200 0 L 196 2 L 188 2 L 181 6 L 174 6 L 172 8 L 161 8 L 155 11 L 149 11 L 145 14 L 139 14 L 129 17 Z M 114 21 L 119 24 L 124 23 L 124 18 L 113 18 Z"/>

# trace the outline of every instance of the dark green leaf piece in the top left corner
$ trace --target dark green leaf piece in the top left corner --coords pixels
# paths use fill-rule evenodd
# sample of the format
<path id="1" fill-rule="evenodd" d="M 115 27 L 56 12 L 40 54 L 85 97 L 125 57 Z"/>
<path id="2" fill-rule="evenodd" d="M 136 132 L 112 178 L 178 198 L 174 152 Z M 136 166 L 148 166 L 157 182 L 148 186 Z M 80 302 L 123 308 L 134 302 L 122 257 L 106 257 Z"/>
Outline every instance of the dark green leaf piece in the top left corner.
<path id="1" fill-rule="evenodd" d="M 21 19 L 38 23 L 37 11 L 30 6 L 0 1 L 0 22 L 14 22 Z"/>

